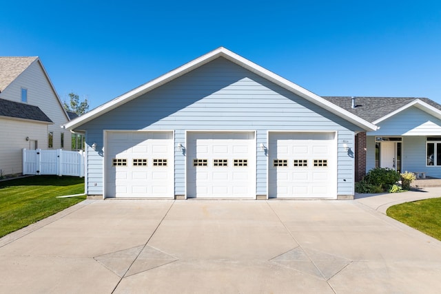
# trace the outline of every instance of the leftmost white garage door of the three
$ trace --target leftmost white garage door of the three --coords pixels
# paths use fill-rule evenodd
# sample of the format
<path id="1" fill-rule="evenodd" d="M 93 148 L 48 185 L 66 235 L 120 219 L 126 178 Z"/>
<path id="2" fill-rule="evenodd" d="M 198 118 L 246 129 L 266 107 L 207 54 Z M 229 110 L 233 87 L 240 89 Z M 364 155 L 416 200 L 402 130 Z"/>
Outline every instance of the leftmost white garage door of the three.
<path id="1" fill-rule="evenodd" d="M 172 132 L 107 132 L 106 140 L 106 198 L 174 198 Z"/>

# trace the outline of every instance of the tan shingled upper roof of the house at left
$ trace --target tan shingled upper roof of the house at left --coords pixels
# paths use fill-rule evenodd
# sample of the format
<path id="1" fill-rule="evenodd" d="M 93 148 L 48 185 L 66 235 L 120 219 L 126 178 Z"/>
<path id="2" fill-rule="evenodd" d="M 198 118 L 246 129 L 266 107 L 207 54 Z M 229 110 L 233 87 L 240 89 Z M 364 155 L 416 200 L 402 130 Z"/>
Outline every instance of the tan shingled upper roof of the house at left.
<path id="1" fill-rule="evenodd" d="M 38 57 L 5 57 L 0 56 L 0 92 L 3 92 L 14 79 Z"/>

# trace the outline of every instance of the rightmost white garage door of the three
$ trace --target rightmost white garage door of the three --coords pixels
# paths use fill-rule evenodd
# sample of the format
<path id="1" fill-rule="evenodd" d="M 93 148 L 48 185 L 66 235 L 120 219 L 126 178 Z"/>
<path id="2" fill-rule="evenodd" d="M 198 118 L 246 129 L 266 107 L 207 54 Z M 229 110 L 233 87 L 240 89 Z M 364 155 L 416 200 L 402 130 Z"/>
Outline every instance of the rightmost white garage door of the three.
<path id="1" fill-rule="evenodd" d="M 269 198 L 336 198 L 335 133 L 270 133 Z"/>

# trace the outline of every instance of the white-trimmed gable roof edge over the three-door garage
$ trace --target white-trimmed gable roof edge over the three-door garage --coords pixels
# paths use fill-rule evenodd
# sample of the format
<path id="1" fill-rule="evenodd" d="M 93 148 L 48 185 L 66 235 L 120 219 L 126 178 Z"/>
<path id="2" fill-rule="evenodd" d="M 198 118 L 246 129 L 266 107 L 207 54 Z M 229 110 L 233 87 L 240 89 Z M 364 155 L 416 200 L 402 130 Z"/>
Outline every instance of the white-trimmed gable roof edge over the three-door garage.
<path id="1" fill-rule="evenodd" d="M 242 56 L 239 56 L 238 54 L 229 51 L 223 47 L 217 48 L 212 52 L 208 52 L 207 54 L 198 57 L 197 59 L 194 59 L 193 61 L 190 61 L 189 63 L 186 63 L 185 65 L 182 65 L 175 70 L 172 70 L 171 72 L 167 72 L 167 74 L 163 74 L 162 76 L 159 76 L 158 78 L 155 78 L 154 80 L 145 83 L 144 85 L 141 85 L 140 87 L 137 87 L 130 92 L 114 98 L 112 101 L 96 107 L 95 109 L 92 109 L 87 114 L 83 114 L 79 118 L 76 118 L 70 121 L 70 123 L 65 124 L 65 127 L 67 129 L 75 129 L 83 125 L 84 123 L 87 123 L 88 121 L 93 120 L 94 118 L 101 116 L 102 114 L 110 112 L 112 109 L 115 109 L 116 107 L 119 107 L 129 101 L 132 101 L 134 98 L 150 92 L 156 87 L 164 85 L 165 83 L 168 83 L 175 78 L 178 78 L 179 76 L 183 76 L 187 72 L 191 72 L 192 70 L 195 70 L 196 68 L 201 67 L 202 65 L 205 65 L 206 63 L 209 63 L 210 61 L 213 61 L 214 59 L 217 59 L 219 57 L 223 57 L 228 61 L 232 61 L 233 63 L 244 67 L 246 70 L 249 70 L 251 72 L 254 72 L 254 74 L 257 74 L 258 76 L 266 78 L 268 81 L 271 81 L 272 83 L 275 83 L 276 85 L 279 85 L 280 87 L 283 87 L 290 92 L 293 92 L 294 94 L 297 94 L 298 96 L 301 96 L 302 98 L 305 98 L 306 100 L 327 109 L 329 112 L 336 114 L 337 116 L 340 116 L 345 120 L 348 120 L 349 122 L 357 125 L 362 129 L 369 131 L 377 129 L 376 125 L 369 123 L 367 120 L 364 120 L 356 116 L 355 114 L 352 114 L 351 112 L 342 109 L 334 103 L 331 103 L 326 99 L 312 92 L 309 92 L 308 90 L 288 81 L 287 79 L 278 76 L 277 74 L 266 70 L 260 65 L 257 65 L 256 63 L 253 63 L 252 61 L 249 61 Z"/>

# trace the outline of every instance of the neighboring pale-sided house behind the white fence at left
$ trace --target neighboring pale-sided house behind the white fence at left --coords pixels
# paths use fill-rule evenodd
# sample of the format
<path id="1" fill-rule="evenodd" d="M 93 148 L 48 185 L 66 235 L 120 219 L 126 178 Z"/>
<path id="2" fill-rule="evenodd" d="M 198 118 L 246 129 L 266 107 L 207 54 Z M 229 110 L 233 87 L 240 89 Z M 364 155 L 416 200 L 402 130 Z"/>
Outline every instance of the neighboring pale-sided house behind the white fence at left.
<path id="1" fill-rule="evenodd" d="M 0 169 L 20 174 L 22 149 L 71 149 L 69 117 L 38 57 L 0 57 Z"/>

